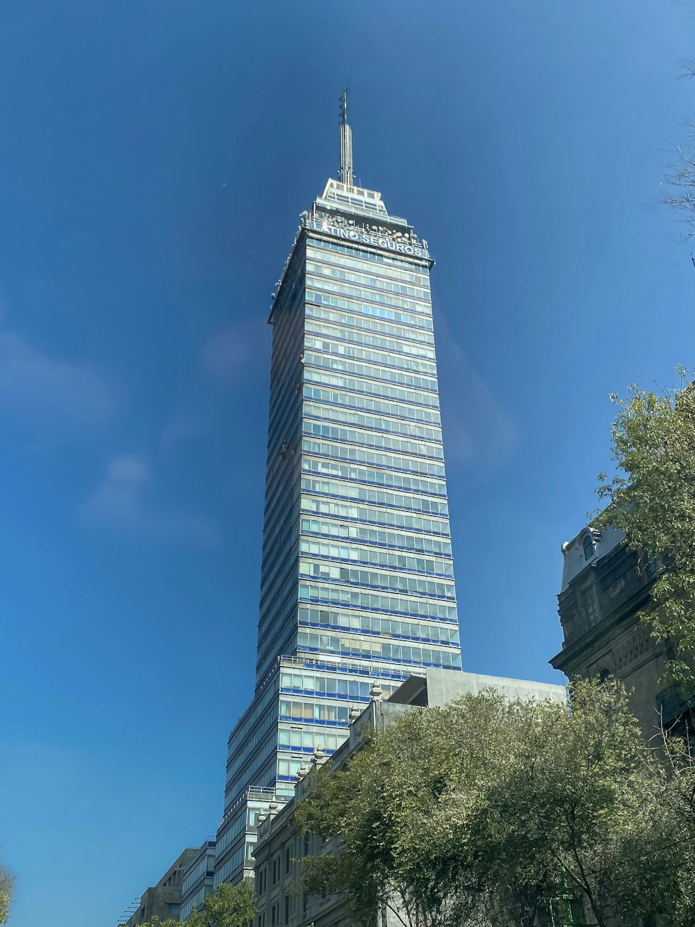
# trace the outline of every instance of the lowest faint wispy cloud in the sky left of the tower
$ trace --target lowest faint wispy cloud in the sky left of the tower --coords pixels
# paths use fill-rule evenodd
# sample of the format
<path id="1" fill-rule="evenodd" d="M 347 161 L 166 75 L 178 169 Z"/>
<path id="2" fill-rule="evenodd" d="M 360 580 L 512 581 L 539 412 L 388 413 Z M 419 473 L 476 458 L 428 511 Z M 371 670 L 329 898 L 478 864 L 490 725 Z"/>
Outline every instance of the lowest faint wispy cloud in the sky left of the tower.
<path id="1" fill-rule="evenodd" d="M 187 512 L 158 512 L 148 494 L 153 482 L 151 465 L 144 456 L 119 454 L 82 505 L 82 517 L 98 527 L 154 540 L 196 546 L 218 543 L 219 531 L 208 519 Z"/>

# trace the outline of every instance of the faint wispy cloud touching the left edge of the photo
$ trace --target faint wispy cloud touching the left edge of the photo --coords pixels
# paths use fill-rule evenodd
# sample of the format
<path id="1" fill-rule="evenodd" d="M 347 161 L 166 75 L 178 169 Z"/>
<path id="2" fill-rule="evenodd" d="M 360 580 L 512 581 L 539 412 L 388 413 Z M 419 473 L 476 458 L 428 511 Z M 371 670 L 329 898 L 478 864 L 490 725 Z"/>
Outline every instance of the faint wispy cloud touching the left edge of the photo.
<path id="1" fill-rule="evenodd" d="M 69 362 L 0 331 L 0 412 L 56 425 L 92 426 L 113 420 L 120 389 L 86 363 Z"/>

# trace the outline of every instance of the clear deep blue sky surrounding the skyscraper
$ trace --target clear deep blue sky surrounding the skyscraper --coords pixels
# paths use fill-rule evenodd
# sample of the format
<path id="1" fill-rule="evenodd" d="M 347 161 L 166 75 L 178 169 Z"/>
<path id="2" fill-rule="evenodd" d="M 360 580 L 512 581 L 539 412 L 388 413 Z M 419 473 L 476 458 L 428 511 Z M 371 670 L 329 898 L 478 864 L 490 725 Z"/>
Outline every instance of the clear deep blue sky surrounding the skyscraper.
<path id="1" fill-rule="evenodd" d="M 464 667 L 560 681 L 611 391 L 692 361 L 660 207 L 695 7 L 4 0 L 0 843 L 113 927 L 221 817 L 252 691 L 269 296 L 355 164 L 436 256 Z"/>

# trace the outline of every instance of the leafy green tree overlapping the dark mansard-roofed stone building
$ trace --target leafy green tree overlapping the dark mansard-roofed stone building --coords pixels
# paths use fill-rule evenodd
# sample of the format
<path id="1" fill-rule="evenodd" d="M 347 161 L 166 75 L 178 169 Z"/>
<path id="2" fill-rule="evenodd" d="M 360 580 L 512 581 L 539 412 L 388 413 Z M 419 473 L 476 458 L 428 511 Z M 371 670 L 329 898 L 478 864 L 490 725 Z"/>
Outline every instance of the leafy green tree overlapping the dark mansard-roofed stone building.
<path id="1" fill-rule="evenodd" d="M 633 386 L 626 399 L 612 399 L 617 472 L 599 477 L 609 505 L 595 524 L 622 528 L 627 544 L 649 558 L 656 581 L 642 617 L 657 641 L 676 645 L 676 679 L 692 680 L 682 657 L 695 653 L 695 388 L 658 395 Z"/>

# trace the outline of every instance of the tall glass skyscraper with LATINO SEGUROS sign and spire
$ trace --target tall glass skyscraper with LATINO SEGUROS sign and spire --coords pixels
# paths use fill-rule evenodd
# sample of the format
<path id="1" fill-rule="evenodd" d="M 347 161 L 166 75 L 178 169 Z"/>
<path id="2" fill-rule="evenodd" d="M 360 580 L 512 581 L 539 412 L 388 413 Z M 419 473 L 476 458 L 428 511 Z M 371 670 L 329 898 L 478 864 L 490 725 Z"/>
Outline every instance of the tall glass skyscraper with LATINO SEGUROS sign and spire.
<path id="1" fill-rule="evenodd" d="M 253 868 L 259 813 L 374 684 L 461 669 L 427 243 L 339 179 L 301 216 L 272 298 L 256 692 L 229 737 L 215 884 Z"/>

